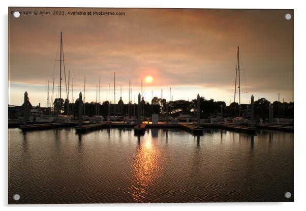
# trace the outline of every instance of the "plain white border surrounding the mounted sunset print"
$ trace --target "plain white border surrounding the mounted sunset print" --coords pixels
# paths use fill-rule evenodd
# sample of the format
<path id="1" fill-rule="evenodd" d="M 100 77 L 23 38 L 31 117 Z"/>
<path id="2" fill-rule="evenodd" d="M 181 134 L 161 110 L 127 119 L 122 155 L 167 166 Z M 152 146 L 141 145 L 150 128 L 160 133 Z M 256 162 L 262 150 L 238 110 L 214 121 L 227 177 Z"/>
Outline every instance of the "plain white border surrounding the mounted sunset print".
<path id="1" fill-rule="evenodd" d="M 1 112 L 1 131 L 3 139 L 1 140 L 1 167 L 2 172 L 0 174 L 1 181 L 1 192 L 0 192 L 0 204 L 4 206 L 4 209 L 17 209 L 20 207 L 26 210 L 44 209 L 53 210 L 55 207 L 73 208 L 74 210 L 83 210 L 85 207 L 101 209 L 107 208 L 109 210 L 124 208 L 128 210 L 155 210 L 155 209 L 169 209 L 175 208 L 178 210 L 186 210 L 187 208 L 213 208 L 217 210 L 256 210 L 258 209 L 277 209 L 286 210 L 288 209 L 302 209 L 305 207 L 305 150 L 306 150 L 306 140 L 303 138 L 303 124 L 305 118 L 305 109 L 303 105 L 306 104 L 305 96 L 302 90 L 304 81 L 306 79 L 306 68 L 305 68 L 305 38 L 306 30 L 305 23 L 306 20 L 306 8 L 303 1 L 209 1 L 200 3 L 200 1 L 168 1 L 164 0 L 158 1 L 145 1 L 145 0 L 133 0 L 133 1 L 10 1 L 1 2 L 1 15 L 2 15 L 2 33 L 1 42 L 3 49 L 1 51 L 1 63 L 3 64 L 3 69 L 1 71 L 1 91 L 4 98 L 2 103 L 0 103 Z M 64 205 L 7 205 L 8 203 L 8 7 L 121 7 L 121 8 L 224 8 L 224 9 L 294 9 L 294 101 L 295 101 L 295 132 L 294 132 L 294 201 L 295 202 L 282 202 L 282 203 L 169 203 L 169 204 L 64 204 Z M 4 210 L 2 209 L 2 210 Z"/>

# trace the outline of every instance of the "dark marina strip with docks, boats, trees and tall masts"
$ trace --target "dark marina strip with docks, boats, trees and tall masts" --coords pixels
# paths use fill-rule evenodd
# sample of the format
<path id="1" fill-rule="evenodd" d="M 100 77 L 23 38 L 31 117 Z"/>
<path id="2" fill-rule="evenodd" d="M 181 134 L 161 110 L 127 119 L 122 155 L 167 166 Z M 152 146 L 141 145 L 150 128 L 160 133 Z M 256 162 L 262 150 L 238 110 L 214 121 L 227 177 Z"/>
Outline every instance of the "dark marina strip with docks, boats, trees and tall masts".
<path id="1" fill-rule="evenodd" d="M 131 80 L 129 81 L 129 101 L 124 103 L 120 87 L 120 99 L 117 103 L 106 100 L 100 103 L 98 85 L 96 86 L 96 102 L 85 101 L 86 78 L 84 77 L 84 92 L 79 93 L 75 102 L 70 102 L 70 71 L 66 77 L 65 58 L 63 49 L 62 32 L 60 32 L 60 59 L 59 59 L 59 98 L 55 98 L 53 107 L 41 108 L 40 105 L 33 109 L 29 102 L 28 93 L 24 93 L 24 103 L 21 107 L 10 107 L 9 115 L 23 118 L 22 130 L 48 129 L 65 125 L 75 126 L 77 132 L 99 129 L 102 127 L 134 127 L 135 134 L 143 134 L 146 128 L 181 128 L 193 134 L 202 134 L 203 128 L 217 127 L 240 132 L 255 134 L 256 128 L 277 129 L 293 131 L 293 102 L 283 100 L 274 101 L 272 104 L 265 98 L 254 101 L 250 97 L 250 104 L 240 103 L 240 53 L 237 48 L 237 63 L 234 101 L 226 105 L 224 101 L 206 100 L 197 95 L 196 99 L 170 100 L 153 97 L 150 102 L 144 100 L 142 79 L 141 92 L 138 94 L 138 103 L 131 100 Z M 62 72 L 64 71 L 67 98 L 62 98 Z M 67 86 L 68 84 L 68 86 Z M 238 92 L 236 91 L 236 88 Z M 54 79 L 51 99 L 49 98 L 49 82 L 47 104 L 53 100 Z M 116 75 L 114 73 L 114 95 L 116 101 Z M 163 90 L 161 90 L 163 93 Z M 73 92 L 73 83 L 72 83 Z M 239 103 L 235 101 L 238 94 Z M 73 95 L 72 95 L 73 96 Z M 170 87 L 170 99 L 171 99 Z M 280 94 L 279 94 L 280 98 Z M 13 108 L 16 108 L 15 110 Z M 273 108 L 277 108 L 273 109 Z M 10 112 L 11 109 L 11 112 Z M 31 113 L 31 111 L 34 111 Z M 281 113 L 282 110 L 282 113 Z M 16 112 L 17 111 L 17 112 Z M 32 115 L 32 119 L 29 117 Z M 277 118 L 275 118 L 277 116 Z M 286 118 L 285 118 L 286 117 Z M 288 118 L 289 117 L 289 118 Z M 89 121 L 89 122 L 88 122 Z M 54 123 L 56 122 L 56 123 Z M 9 127 L 21 125 L 18 121 L 9 121 Z"/>

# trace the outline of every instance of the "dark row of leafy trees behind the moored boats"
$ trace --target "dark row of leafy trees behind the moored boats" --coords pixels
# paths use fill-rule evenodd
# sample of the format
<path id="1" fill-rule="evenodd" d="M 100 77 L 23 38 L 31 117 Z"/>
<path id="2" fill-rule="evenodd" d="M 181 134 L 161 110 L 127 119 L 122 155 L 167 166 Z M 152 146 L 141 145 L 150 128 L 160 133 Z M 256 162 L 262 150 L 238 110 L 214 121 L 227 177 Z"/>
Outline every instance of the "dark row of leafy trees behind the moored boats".
<path id="1" fill-rule="evenodd" d="M 70 115 L 78 115 L 78 100 L 74 103 L 69 103 L 69 113 Z M 57 108 L 62 110 L 64 114 L 68 114 L 68 100 L 60 99 L 62 108 L 59 108 L 59 99 L 56 98 L 53 103 L 54 112 Z M 167 102 L 166 99 L 154 97 L 151 102 L 141 100 L 141 115 L 150 117 L 151 114 L 161 114 L 166 113 L 166 104 L 168 103 L 168 112 L 172 117 L 177 117 L 180 114 L 185 115 L 195 115 L 197 99 L 192 100 L 173 100 Z M 274 118 L 293 118 L 293 102 L 280 102 L 274 101 L 270 102 L 266 98 L 260 98 L 254 101 L 254 112 L 257 118 L 268 118 L 269 104 L 273 106 L 273 117 Z M 94 116 L 99 114 L 102 116 L 107 116 L 109 114 L 109 101 L 104 101 L 102 103 L 85 102 L 85 113 L 83 115 Z M 82 107 L 84 109 L 84 107 Z M 230 105 L 226 106 L 224 101 L 215 101 L 213 99 L 206 99 L 204 96 L 200 97 L 200 115 L 201 118 L 207 119 L 209 117 L 222 116 L 223 117 L 236 117 L 248 115 L 250 113 L 250 104 L 240 104 L 240 114 L 239 114 L 239 104 L 237 102 L 232 102 Z M 110 114 L 111 115 L 130 115 L 137 116 L 138 106 L 136 103 L 128 104 L 110 104 Z"/>

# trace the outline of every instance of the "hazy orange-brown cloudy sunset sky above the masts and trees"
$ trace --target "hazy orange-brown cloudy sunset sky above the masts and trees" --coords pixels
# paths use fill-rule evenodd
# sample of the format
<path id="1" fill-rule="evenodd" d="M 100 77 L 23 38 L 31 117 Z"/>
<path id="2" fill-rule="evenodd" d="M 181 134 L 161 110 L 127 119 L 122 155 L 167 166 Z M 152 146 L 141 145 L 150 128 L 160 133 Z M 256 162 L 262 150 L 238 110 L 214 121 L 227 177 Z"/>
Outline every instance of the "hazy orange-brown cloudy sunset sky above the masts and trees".
<path id="1" fill-rule="evenodd" d="M 33 105 L 47 103 L 55 78 L 58 96 L 59 41 L 63 32 L 65 65 L 72 77 L 74 100 L 84 89 L 86 101 L 96 101 L 101 75 L 100 101 L 116 101 L 122 86 L 123 101 L 141 92 L 170 100 L 234 100 L 237 46 L 240 48 L 241 103 L 266 97 L 293 101 L 293 10 L 209 9 L 80 9 L 11 8 L 13 11 L 50 11 L 50 15 L 9 15 L 9 104 L 21 105 L 28 92 Z M 52 15 L 53 11 L 124 12 L 125 15 Z M 145 80 L 152 77 L 150 83 Z M 62 76 L 64 78 L 64 74 Z M 68 78 L 67 78 L 68 80 Z M 63 80 L 62 85 L 65 85 Z M 65 87 L 62 97 L 67 98 Z M 238 101 L 236 96 L 236 101 Z"/>

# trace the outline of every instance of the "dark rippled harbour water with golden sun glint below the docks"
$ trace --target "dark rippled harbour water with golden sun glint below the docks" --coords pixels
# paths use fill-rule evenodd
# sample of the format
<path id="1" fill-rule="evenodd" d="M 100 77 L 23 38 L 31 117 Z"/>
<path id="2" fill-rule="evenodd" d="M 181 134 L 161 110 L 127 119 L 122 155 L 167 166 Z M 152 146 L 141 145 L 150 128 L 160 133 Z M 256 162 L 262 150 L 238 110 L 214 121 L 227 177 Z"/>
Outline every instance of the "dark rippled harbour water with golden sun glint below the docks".
<path id="1" fill-rule="evenodd" d="M 293 201 L 293 133 L 9 129 L 9 203 Z M 286 199 L 285 192 L 292 197 Z M 12 196 L 20 195 L 19 201 Z"/>

